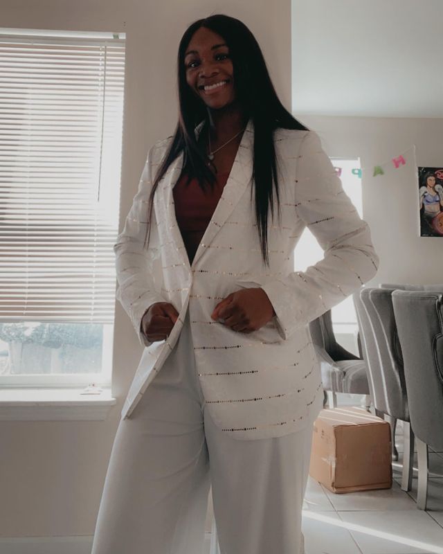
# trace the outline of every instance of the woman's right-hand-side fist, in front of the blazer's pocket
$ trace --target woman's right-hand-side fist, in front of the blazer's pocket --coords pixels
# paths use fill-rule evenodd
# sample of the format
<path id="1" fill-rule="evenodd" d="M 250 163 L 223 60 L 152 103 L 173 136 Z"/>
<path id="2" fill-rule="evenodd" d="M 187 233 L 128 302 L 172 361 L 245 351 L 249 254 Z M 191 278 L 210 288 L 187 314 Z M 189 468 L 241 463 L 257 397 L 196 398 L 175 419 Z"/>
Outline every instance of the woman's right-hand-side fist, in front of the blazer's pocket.
<path id="1" fill-rule="evenodd" d="M 211 317 L 224 319 L 223 324 L 234 331 L 257 331 L 275 315 L 271 301 L 260 287 L 242 289 L 228 294 L 215 308 Z"/>

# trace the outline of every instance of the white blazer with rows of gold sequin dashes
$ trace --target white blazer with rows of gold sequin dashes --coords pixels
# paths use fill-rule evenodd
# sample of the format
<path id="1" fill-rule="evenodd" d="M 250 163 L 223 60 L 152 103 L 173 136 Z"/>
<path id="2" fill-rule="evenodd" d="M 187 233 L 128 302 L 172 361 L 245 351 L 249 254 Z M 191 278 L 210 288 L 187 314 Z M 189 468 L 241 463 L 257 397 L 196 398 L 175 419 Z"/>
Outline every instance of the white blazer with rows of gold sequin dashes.
<path id="1" fill-rule="evenodd" d="M 195 129 L 196 136 L 202 125 Z M 192 265 L 172 196 L 183 153 L 159 182 L 150 246 L 144 249 L 147 201 L 171 140 L 150 149 L 138 193 L 114 244 L 116 297 L 145 346 L 121 414 L 130 417 L 161 370 L 189 308 L 197 373 L 217 427 L 239 439 L 297 431 L 307 425 L 310 415 L 316 417 L 323 402 L 309 321 L 376 274 L 379 258 L 368 224 L 344 193 L 316 132 L 277 129 L 282 226 L 269 217 L 270 267 L 264 266 L 251 200 L 253 123 L 249 120 Z M 293 251 L 306 226 L 325 256 L 305 272 L 293 271 Z M 221 299 L 242 287 L 262 287 L 275 310 L 271 321 L 248 334 L 210 316 Z M 179 319 L 168 339 L 150 343 L 141 333 L 141 319 L 154 302 L 172 303 Z"/>

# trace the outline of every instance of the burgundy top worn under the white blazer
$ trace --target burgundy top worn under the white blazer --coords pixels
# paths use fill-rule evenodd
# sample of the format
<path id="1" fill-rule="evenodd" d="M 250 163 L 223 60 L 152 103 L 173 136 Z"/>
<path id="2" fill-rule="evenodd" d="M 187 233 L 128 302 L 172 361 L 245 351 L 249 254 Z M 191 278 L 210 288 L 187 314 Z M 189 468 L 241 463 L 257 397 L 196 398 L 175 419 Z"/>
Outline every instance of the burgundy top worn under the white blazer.
<path id="1" fill-rule="evenodd" d="M 186 175 L 182 175 L 172 189 L 174 197 L 175 217 L 188 252 L 189 263 L 192 264 L 195 253 L 203 238 L 206 227 L 223 192 L 229 172 L 217 173 L 214 190 L 204 193 L 197 179 L 191 179 L 186 186 Z"/>

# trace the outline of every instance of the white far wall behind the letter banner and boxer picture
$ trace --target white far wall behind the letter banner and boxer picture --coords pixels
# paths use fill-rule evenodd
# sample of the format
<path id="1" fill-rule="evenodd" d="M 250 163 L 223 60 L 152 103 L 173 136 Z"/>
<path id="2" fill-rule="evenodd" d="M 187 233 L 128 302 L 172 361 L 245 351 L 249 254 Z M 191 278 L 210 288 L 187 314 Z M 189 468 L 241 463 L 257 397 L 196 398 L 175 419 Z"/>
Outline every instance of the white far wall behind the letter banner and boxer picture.
<path id="1" fill-rule="evenodd" d="M 374 167 L 415 144 L 417 166 L 443 165 L 443 118 L 365 118 L 294 114 L 320 135 L 330 157 L 361 159 Z M 393 167 L 393 166 L 392 166 Z M 384 176 L 363 172 L 363 218 L 380 256 L 378 283 L 443 283 L 443 238 L 419 237 L 416 167 Z"/>

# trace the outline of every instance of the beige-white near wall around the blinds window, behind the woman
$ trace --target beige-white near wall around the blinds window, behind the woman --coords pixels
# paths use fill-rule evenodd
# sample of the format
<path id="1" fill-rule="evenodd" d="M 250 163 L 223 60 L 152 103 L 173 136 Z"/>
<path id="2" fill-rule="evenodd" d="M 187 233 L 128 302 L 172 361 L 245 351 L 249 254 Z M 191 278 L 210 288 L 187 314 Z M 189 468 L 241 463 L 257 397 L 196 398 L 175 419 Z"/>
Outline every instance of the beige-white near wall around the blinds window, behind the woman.
<path id="1" fill-rule="evenodd" d="M 2 27 L 127 33 L 120 229 L 147 149 L 174 130 L 179 39 L 192 21 L 218 12 L 251 28 L 280 99 L 290 109 L 290 0 L 0 0 Z M 118 404 L 109 420 L 0 423 L 2 537 L 92 535 L 120 409 L 141 357 L 120 304 L 115 337 Z"/>

